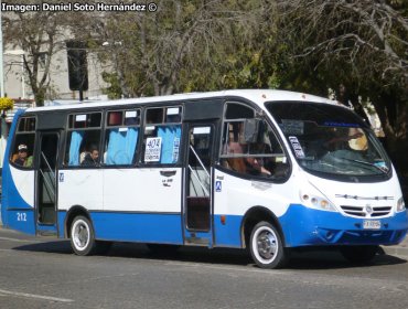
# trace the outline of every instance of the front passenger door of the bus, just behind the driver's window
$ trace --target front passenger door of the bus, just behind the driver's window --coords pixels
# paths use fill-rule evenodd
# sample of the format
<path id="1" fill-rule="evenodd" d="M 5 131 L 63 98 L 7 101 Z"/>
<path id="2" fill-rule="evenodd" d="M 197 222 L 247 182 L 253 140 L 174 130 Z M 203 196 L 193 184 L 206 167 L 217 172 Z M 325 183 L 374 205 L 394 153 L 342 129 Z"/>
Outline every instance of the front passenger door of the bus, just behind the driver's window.
<path id="1" fill-rule="evenodd" d="M 213 246 L 212 150 L 214 125 L 191 125 L 185 169 L 184 244 Z"/>

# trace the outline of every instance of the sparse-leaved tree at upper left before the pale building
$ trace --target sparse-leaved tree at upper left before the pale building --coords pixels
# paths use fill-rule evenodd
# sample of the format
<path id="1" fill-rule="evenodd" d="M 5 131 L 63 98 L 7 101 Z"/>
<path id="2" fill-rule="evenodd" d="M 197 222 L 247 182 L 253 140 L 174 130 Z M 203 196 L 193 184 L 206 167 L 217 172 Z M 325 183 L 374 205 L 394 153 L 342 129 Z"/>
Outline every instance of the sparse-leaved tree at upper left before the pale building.
<path id="1" fill-rule="evenodd" d="M 60 3 L 53 0 L 47 3 Z M 79 1 L 76 1 L 79 2 Z M 12 0 L 8 3 L 21 3 Z M 24 4 L 39 1 L 30 0 Z M 75 28 L 80 28 L 86 20 L 79 12 L 32 11 L 3 12 L 4 42 L 10 47 L 22 49 L 23 65 L 28 82 L 34 94 L 35 104 L 44 105 L 46 90 L 50 86 L 50 70 L 53 56 L 66 49 L 65 41 L 69 39 Z"/>

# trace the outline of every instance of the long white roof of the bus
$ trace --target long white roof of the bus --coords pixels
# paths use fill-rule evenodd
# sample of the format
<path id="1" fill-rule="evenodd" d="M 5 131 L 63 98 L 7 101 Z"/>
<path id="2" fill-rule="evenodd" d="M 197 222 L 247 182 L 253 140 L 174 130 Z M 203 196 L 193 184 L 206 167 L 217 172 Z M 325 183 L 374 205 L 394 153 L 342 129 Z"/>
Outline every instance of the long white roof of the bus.
<path id="1" fill-rule="evenodd" d="M 116 105 L 131 105 L 131 104 L 146 104 L 146 103 L 163 103 L 173 100 L 192 100 L 192 99 L 206 99 L 212 97 L 243 97 L 249 99 L 262 106 L 265 102 L 271 100 L 301 100 L 301 102 L 315 102 L 335 104 L 334 100 L 330 100 L 324 97 L 309 95 L 304 93 L 296 93 L 288 90 L 272 90 L 272 89 L 234 89 L 234 90 L 221 90 L 221 92 L 206 92 L 206 93 L 185 93 L 174 94 L 167 96 L 152 96 L 152 97 L 138 97 L 138 98 L 126 98 L 115 99 L 105 102 L 87 102 L 87 103 L 75 103 L 57 106 L 44 106 L 44 107 L 32 107 L 28 108 L 26 111 L 46 111 L 46 110 L 64 110 L 72 108 L 89 108 L 89 107 L 109 107 Z"/>

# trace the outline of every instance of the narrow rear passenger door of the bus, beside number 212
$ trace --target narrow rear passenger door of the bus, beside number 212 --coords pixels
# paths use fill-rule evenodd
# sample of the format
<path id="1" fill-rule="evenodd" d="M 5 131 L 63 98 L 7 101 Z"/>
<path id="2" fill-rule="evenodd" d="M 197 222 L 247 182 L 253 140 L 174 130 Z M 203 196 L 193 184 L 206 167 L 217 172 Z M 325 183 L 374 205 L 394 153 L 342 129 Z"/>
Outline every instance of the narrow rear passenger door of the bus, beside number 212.
<path id="1" fill-rule="evenodd" d="M 58 132 L 40 132 L 36 172 L 36 234 L 56 234 Z"/>

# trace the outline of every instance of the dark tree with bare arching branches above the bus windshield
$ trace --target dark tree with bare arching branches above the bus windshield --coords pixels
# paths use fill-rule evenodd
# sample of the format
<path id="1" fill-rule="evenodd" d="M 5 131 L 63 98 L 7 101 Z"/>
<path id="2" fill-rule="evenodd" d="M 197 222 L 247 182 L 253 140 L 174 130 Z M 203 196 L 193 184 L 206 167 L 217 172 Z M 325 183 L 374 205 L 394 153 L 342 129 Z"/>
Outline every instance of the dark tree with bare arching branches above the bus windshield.
<path id="1" fill-rule="evenodd" d="M 408 151 L 407 2 L 289 0 L 279 8 L 292 72 L 334 89 L 344 84 L 356 108 L 358 97 L 369 97 L 389 152 Z M 402 167 L 399 158 L 394 160 Z"/>

